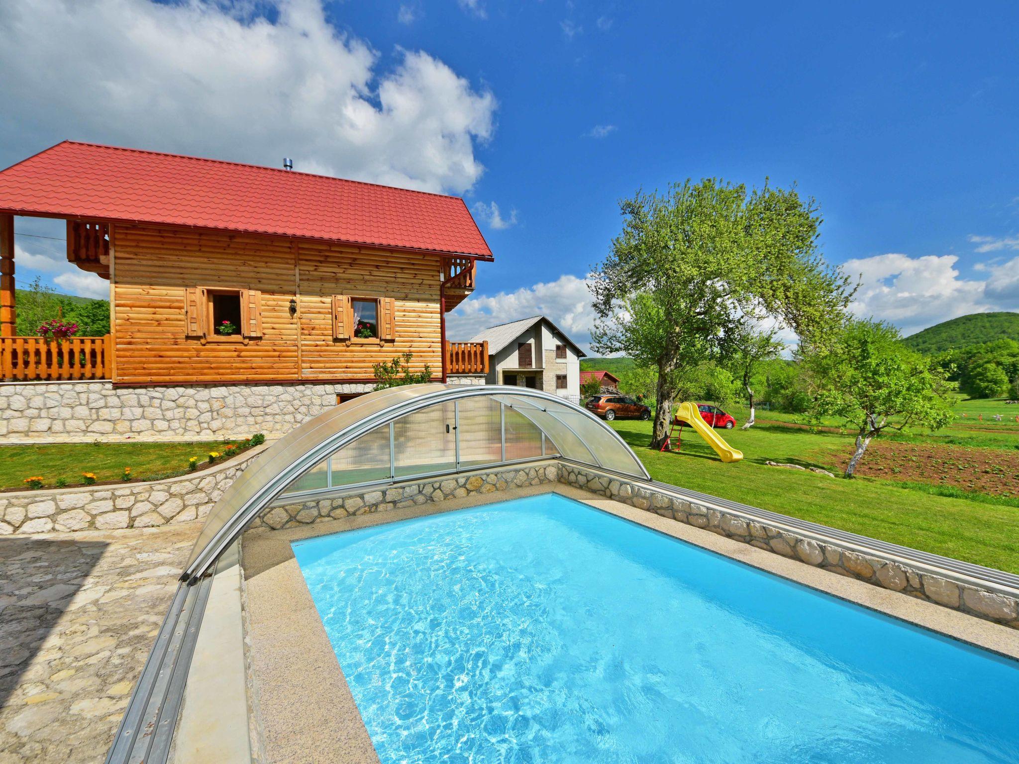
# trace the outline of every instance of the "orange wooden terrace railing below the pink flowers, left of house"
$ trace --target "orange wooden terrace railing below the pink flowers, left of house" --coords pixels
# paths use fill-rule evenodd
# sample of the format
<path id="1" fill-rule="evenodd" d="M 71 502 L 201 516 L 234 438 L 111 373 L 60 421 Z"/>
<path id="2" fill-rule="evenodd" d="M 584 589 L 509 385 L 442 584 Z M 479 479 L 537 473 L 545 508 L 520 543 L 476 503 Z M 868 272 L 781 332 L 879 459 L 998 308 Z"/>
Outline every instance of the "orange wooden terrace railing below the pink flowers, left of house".
<path id="1" fill-rule="evenodd" d="M 105 337 L 0 337 L 0 380 L 110 379 L 113 345 Z"/>

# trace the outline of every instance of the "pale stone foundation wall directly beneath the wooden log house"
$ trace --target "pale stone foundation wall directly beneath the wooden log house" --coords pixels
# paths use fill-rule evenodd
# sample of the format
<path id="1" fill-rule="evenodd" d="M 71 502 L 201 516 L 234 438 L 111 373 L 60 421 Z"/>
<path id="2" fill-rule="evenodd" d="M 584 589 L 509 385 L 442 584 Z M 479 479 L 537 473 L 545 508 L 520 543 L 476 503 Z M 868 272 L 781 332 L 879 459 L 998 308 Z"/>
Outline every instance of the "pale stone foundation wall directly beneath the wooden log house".
<path id="1" fill-rule="evenodd" d="M 368 384 L 114 387 L 110 382 L 0 384 L 0 444 L 279 437 Z"/>

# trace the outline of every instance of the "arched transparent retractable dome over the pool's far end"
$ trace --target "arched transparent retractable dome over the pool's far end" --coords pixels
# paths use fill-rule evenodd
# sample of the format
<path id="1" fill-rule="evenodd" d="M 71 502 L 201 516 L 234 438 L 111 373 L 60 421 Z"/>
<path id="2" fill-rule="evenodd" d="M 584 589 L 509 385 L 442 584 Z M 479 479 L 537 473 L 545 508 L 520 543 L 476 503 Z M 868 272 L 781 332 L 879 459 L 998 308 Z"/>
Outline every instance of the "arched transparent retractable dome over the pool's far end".
<path id="1" fill-rule="evenodd" d="M 421 384 L 362 395 L 315 417 L 262 452 L 212 508 L 184 578 L 203 576 L 284 494 L 437 477 L 548 457 L 647 480 L 619 434 L 557 395 L 504 385 Z"/>

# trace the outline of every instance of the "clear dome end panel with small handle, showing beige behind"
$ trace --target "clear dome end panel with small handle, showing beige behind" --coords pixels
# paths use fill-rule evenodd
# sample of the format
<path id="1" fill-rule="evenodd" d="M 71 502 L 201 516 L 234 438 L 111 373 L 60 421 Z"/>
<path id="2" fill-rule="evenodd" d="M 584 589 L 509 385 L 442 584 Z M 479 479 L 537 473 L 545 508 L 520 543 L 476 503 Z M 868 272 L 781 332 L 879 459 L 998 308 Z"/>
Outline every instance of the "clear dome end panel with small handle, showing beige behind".
<path id="1" fill-rule="evenodd" d="M 457 469 L 453 402 L 436 403 L 393 423 L 397 478 Z"/>

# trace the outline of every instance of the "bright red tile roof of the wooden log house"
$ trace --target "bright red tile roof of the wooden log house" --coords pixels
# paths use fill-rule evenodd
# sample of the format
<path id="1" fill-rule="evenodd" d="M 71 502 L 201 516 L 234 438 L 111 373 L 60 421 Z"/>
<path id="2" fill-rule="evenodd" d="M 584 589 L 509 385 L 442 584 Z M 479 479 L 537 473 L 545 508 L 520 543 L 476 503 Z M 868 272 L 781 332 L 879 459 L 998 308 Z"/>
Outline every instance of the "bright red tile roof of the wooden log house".
<path id="1" fill-rule="evenodd" d="M 492 255 L 457 197 L 73 141 L 0 172 L 0 211 Z"/>

